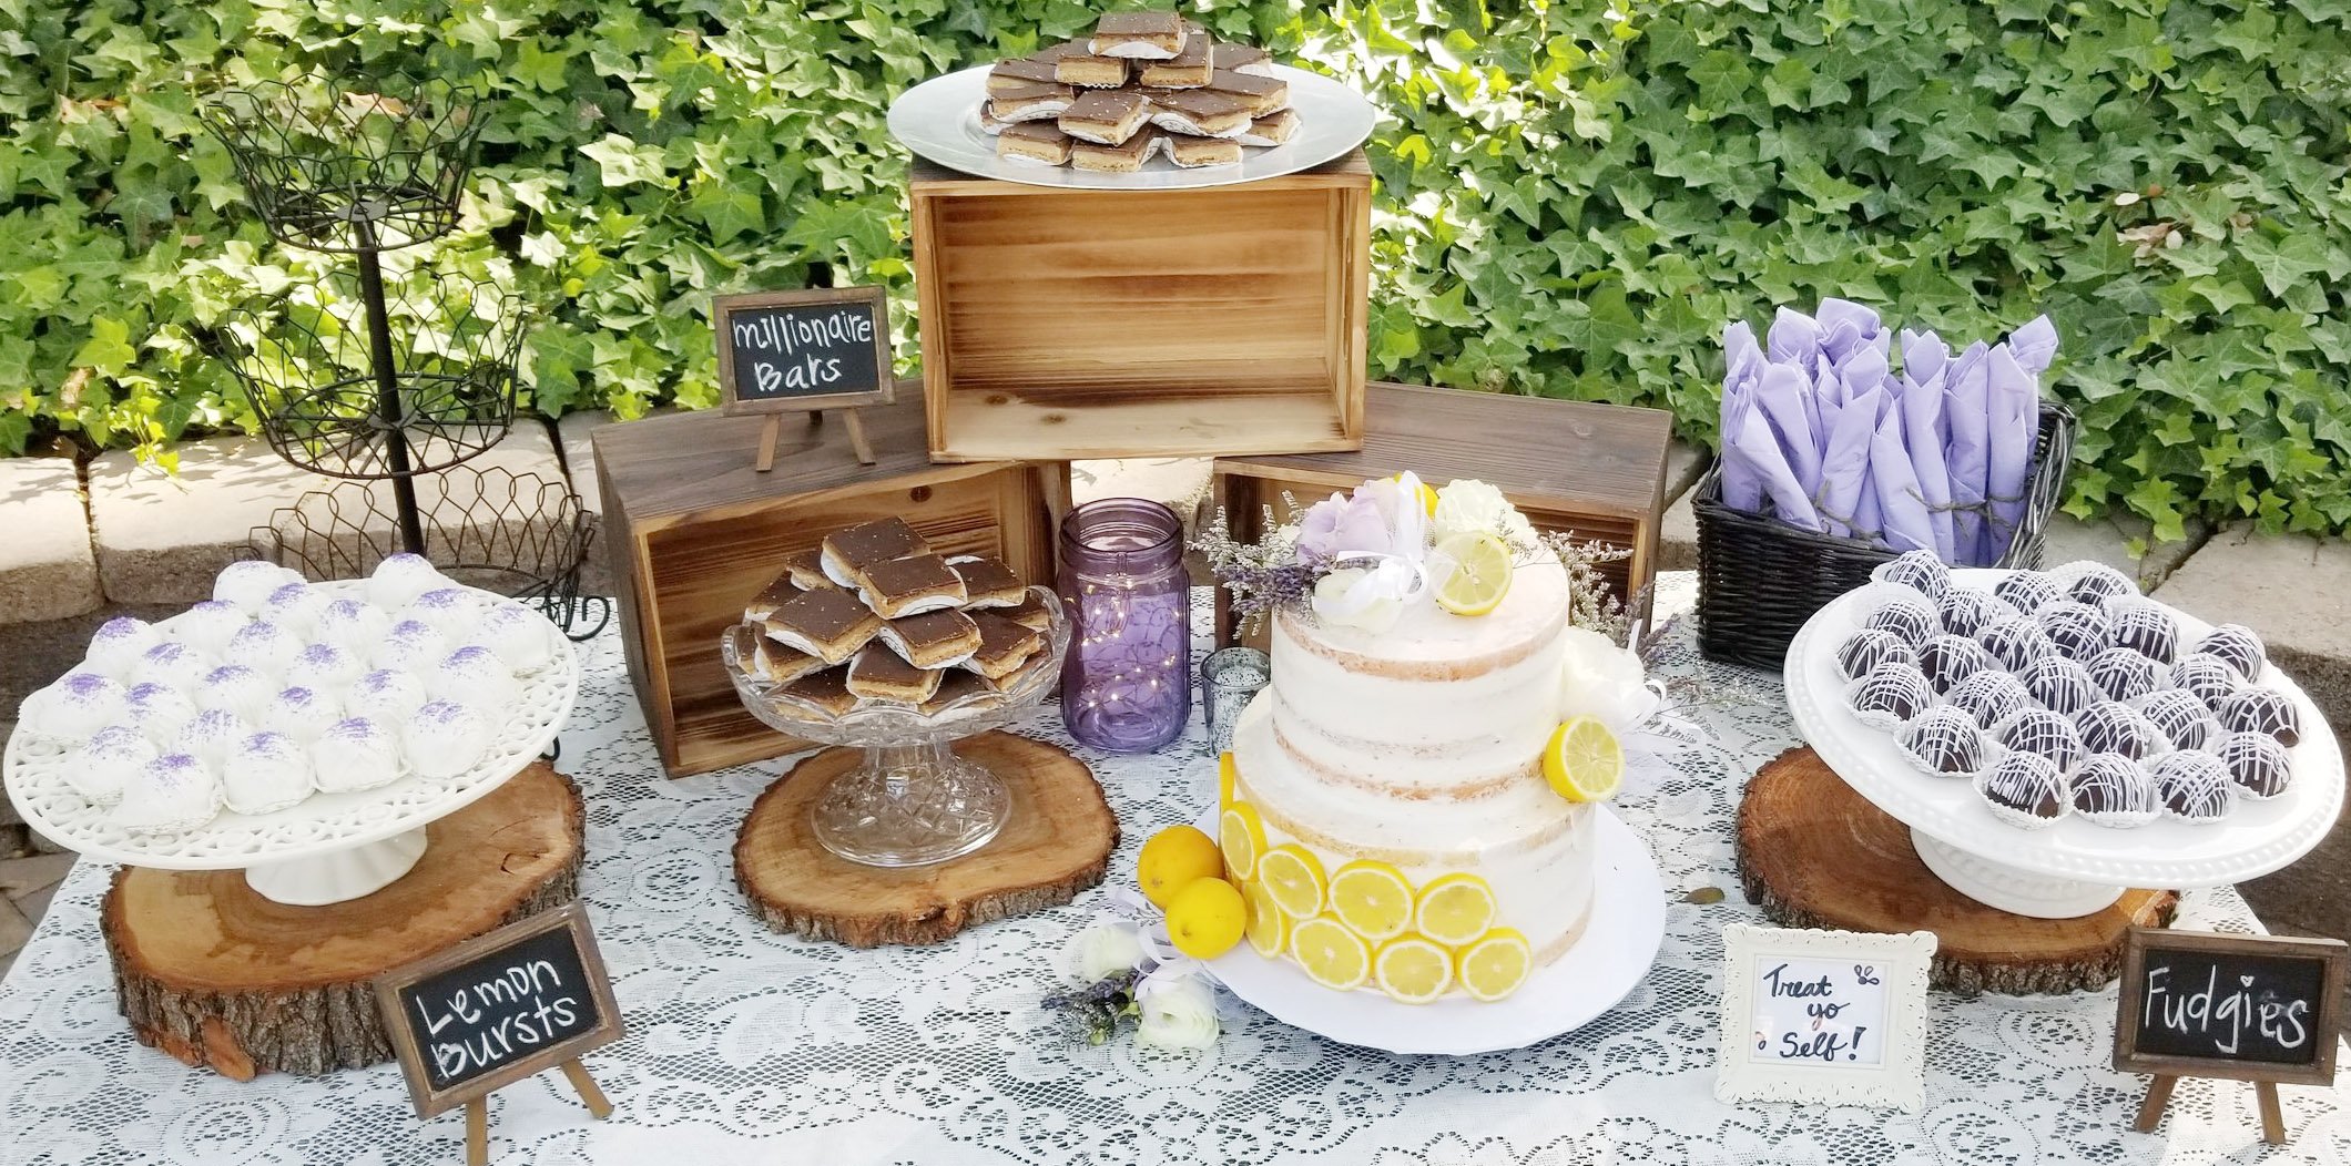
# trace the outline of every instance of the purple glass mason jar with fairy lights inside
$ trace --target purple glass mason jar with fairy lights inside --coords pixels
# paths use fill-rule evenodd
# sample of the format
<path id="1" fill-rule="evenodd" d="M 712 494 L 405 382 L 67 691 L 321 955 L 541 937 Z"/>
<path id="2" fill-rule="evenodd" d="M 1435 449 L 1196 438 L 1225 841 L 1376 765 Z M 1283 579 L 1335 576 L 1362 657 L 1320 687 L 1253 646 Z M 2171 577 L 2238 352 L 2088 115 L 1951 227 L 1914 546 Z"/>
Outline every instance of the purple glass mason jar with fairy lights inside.
<path id="1" fill-rule="evenodd" d="M 1060 522 L 1070 654 L 1060 722 L 1110 752 L 1150 752 L 1192 715 L 1192 581 L 1183 520 L 1143 498 L 1100 498 Z"/>

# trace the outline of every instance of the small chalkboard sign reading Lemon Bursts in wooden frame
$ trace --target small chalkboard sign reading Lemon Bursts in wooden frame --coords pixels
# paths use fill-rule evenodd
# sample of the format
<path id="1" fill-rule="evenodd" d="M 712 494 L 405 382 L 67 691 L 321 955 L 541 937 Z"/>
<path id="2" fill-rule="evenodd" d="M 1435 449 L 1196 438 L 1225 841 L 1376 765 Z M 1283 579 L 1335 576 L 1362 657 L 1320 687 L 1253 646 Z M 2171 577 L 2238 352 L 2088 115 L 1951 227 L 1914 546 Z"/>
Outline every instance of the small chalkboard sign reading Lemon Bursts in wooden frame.
<path id="1" fill-rule="evenodd" d="M 416 1117 L 621 1039 L 588 912 L 564 905 L 376 980 Z"/>

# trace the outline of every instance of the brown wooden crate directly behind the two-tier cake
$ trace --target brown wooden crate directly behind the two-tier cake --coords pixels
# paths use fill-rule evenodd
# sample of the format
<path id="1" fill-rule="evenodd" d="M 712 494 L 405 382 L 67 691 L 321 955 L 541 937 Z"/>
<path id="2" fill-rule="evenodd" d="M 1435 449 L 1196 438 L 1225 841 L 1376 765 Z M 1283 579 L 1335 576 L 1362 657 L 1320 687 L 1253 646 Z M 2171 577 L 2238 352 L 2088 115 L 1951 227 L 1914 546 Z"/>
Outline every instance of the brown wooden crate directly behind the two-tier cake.
<path id="1" fill-rule="evenodd" d="M 1361 451 L 1215 458 L 1213 501 L 1232 522 L 1232 536 L 1255 541 L 1267 505 L 1286 522 L 1284 494 L 1312 505 L 1366 477 L 1411 470 L 1439 487 L 1479 477 L 1538 529 L 1629 548 L 1629 559 L 1601 569 L 1625 602 L 1657 576 L 1672 414 L 1389 383 L 1371 386 L 1366 407 Z M 1648 618 L 1646 602 L 1639 618 Z M 1232 623 L 1220 590 L 1220 644 L 1234 642 Z"/>

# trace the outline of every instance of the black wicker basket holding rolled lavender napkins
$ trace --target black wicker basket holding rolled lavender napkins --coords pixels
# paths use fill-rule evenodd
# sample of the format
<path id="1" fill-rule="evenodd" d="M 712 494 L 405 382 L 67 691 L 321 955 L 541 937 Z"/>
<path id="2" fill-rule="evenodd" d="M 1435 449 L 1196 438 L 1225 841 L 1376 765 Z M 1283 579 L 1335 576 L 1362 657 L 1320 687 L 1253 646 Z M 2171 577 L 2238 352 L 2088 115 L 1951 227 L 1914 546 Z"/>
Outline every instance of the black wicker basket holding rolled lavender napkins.
<path id="1" fill-rule="evenodd" d="M 2041 402 L 2024 517 L 1998 567 L 2041 567 L 2041 538 L 2064 496 L 2076 428 L 2071 409 Z M 1787 644 L 1815 611 L 1869 583 L 1869 571 L 1895 557 L 1862 538 L 1815 534 L 1723 505 L 1721 468 L 1697 484 L 1690 508 L 1697 510 L 1697 651 L 1709 661 L 1780 668 Z"/>

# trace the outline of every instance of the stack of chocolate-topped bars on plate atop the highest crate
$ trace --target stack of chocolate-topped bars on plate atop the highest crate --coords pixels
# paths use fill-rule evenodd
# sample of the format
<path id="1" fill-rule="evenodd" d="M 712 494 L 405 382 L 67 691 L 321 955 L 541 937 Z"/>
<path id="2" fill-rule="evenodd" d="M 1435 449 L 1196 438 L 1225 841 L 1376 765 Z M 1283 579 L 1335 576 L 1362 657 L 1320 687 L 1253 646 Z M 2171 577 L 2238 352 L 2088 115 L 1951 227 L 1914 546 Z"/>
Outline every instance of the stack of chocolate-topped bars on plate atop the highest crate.
<path id="1" fill-rule="evenodd" d="M 1237 165 L 1244 146 L 1288 141 L 1298 110 L 1265 49 L 1218 45 L 1173 12 L 1112 12 L 1086 40 L 997 61 L 980 127 L 997 158 L 1133 174 L 1159 153 Z"/>

